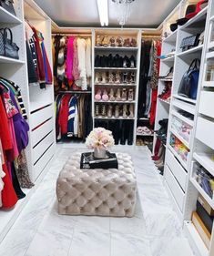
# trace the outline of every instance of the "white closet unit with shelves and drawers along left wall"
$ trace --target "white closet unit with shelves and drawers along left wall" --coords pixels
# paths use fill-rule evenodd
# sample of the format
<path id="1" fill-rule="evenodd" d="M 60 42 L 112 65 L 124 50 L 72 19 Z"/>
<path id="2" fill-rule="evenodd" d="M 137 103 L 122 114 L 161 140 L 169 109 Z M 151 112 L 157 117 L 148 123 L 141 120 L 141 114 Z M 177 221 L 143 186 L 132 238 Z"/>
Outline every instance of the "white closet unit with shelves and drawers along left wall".
<path id="1" fill-rule="evenodd" d="M 46 174 L 46 167 L 55 153 L 55 111 L 54 88 L 48 85 L 46 90 L 28 84 L 27 60 L 25 49 L 25 18 L 32 26 L 36 26 L 45 37 L 46 53 L 52 67 L 51 20 L 33 0 L 15 0 L 15 15 L 0 6 L 0 26 L 9 27 L 13 32 L 13 40 L 19 47 L 19 59 L 0 56 L 0 76 L 17 84 L 25 104 L 29 143 L 25 148 L 27 167 L 35 186 L 23 189 L 25 199 L 18 200 L 13 210 L 0 211 L 0 241 L 12 227 L 19 213 L 35 192 L 39 182 Z M 0 165 L 1 167 L 1 165 Z"/>

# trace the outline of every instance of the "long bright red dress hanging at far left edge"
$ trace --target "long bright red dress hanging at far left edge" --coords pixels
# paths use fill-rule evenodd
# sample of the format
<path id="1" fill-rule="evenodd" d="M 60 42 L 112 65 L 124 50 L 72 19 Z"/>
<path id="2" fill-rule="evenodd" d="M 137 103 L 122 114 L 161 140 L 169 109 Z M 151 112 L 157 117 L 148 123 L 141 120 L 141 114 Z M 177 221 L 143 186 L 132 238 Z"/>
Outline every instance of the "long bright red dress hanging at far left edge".
<path id="1" fill-rule="evenodd" d="M 2 141 L 2 148 L 5 153 L 6 150 L 10 150 L 13 148 L 13 141 L 10 134 L 10 129 L 8 125 L 8 119 L 5 113 L 5 107 L 2 102 L 2 98 L 0 97 L 0 138 Z M 10 179 L 8 169 L 6 164 L 3 165 L 3 170 L 5 172 L 5 177 L 2 179 L 5 186 L 2 190 L 2 204 L 4 208 L 11 208 L 15 206 L 17 202 L 17 196 L 15 194 L 15 189 L 12 184 L 12 180 Z"/>

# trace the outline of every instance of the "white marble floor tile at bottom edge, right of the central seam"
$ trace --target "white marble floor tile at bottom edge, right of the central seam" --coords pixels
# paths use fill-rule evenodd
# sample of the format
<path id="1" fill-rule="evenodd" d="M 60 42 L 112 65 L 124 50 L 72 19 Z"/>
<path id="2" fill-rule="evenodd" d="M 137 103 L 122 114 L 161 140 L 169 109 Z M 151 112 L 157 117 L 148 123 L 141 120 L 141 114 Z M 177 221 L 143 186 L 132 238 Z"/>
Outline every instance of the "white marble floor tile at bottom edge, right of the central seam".
<path id="1" fill-rule="evenodd" d="M 152 256 L 149 241 L 135 235 L 111 233 L 111 256 Z"/>

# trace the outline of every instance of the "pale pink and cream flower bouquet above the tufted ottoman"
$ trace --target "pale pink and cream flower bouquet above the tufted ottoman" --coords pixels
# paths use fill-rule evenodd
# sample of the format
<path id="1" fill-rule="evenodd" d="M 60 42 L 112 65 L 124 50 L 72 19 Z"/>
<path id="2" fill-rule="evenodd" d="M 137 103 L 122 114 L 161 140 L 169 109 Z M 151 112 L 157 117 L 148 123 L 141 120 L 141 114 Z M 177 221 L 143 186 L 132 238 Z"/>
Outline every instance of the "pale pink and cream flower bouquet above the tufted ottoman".
<path id="1" fill-rule="evenodd" d="M 87 148 L 109 148 L 115 145 L 112 132 L 106 128 L 94 128 L 87 136 Z"/>

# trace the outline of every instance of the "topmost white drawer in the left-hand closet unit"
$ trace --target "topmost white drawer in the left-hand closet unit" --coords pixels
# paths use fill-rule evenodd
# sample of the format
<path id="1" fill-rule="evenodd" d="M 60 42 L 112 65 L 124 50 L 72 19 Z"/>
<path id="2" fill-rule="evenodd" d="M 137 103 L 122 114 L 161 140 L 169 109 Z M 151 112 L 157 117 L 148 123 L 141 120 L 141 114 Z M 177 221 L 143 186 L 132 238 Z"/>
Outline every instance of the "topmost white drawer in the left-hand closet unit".
<path id="1" fill-rule="evenodd" d="M 44 123 L 47 119 L 54 117 L 53 105 L 37 110 L 31 114 L 31 129 Z"/>

